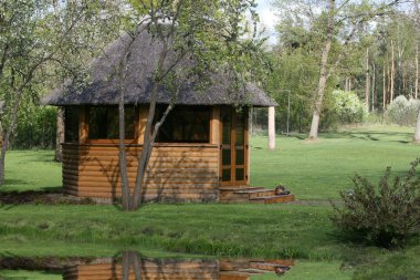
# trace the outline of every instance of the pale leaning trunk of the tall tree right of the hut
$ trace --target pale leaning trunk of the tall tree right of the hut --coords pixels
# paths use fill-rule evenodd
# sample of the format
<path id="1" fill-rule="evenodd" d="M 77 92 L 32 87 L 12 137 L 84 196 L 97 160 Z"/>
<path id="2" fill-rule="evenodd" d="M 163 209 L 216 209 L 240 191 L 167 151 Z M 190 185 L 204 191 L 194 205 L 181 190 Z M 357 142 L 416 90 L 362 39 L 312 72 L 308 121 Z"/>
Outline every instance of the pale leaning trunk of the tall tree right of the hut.
<path id="1" fill-rule="evenodd" d="M 327 21 L 327 27 L 326 27 L 326 41 L 325 41 L 325 45 L 324 45 L 323 53 L 321 56 L 319 81 L 318 81 L 318 87 L 316 92 L 316 100 L 314 104 L 314 113 L 312 116 L 309 139 L 318 138 L 319 115 L 323 108 L 323 100 L 324 100 L 325 87 L 326 87 L 327 77 L 328 77 L 328 73 L 327 73 L 328 72 L 327 71 L 328 55 L 329 55 L 329 50 L 332 48 L 333 37 L 334 37 L 334 28 L 335 28 L 334 21 L 335 21 L 335 0 L 328 0 L 328 21 Z"/>

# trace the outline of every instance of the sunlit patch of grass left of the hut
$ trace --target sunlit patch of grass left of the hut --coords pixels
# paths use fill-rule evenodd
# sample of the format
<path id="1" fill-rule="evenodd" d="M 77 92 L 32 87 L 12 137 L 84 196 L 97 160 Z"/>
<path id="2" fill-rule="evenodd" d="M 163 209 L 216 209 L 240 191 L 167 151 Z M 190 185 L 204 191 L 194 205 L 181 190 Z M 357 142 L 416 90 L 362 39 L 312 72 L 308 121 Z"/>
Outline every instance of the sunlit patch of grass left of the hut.
<path id="1" fill-rule="evenodd" d="M 2 191 L 41 190 L 61 187 L 61 164 L 53 151 L 10 151 L 6 154 Z"/>

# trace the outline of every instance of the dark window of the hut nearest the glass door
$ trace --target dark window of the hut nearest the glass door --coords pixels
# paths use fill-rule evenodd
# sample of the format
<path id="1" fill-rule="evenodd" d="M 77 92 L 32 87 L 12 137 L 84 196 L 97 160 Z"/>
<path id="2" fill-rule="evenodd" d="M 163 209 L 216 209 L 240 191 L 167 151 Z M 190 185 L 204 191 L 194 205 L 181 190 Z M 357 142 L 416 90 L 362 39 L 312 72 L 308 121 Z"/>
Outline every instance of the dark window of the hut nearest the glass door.
<path id="1" fill-rule="evenodd" d="M 158 106 L 155 123 L 166 106 Z M 160 143 L 209 143 L 210 107 L 175 106 L 160 126 L 156 142 Z"/>

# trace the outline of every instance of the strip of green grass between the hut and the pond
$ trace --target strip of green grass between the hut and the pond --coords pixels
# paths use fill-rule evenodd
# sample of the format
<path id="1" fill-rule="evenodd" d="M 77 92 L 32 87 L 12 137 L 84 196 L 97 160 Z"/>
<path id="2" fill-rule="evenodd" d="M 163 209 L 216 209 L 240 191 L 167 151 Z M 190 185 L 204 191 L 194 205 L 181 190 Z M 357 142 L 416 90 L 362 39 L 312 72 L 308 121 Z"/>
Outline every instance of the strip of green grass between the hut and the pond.
<path id="1" fill-rule="evenodd" d="M 148 205 L 123 214 L 113 206 L 3 207 L 0 241 L 61 240 L 189 253 L 339 259 L 342 245 L 330 238 L 328 211 L 297 205 Z"/>

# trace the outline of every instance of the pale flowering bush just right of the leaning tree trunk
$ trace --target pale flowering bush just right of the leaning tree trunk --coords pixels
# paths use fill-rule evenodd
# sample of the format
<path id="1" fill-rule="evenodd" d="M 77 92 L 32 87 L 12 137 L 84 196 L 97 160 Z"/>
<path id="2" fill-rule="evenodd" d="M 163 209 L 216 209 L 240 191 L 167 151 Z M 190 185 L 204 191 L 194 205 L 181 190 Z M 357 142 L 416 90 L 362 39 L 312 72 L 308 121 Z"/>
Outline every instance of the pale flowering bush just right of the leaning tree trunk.
<path id="1" fill-rule="evenodd" d="M 334 91 L 335 112 L 342 124 L 361 123 L 365 105 L 354 92 Z"/>

